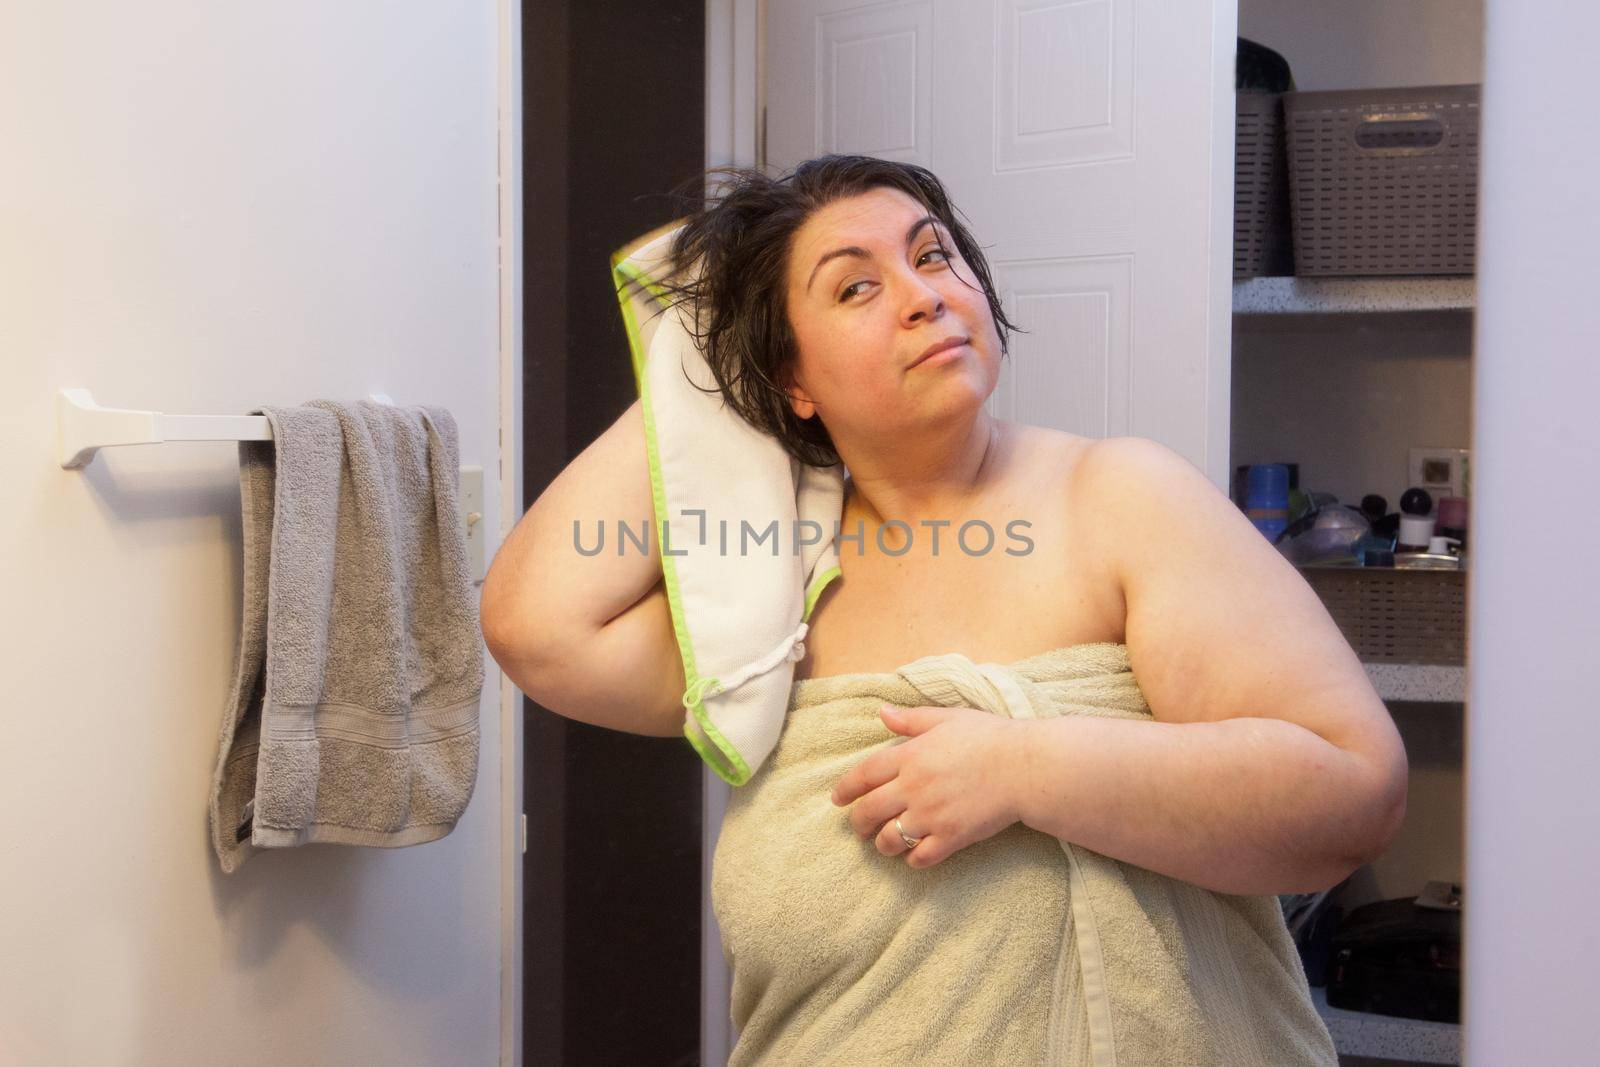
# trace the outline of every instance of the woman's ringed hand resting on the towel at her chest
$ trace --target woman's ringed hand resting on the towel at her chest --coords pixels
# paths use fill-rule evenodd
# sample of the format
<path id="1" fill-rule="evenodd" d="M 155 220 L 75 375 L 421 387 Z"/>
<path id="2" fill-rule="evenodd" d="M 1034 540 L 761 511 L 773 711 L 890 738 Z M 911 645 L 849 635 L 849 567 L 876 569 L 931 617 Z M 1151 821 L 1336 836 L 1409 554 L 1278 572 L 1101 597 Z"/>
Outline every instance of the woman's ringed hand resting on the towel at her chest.
<path id="1" fill-rule="evenodd" d="M 834 803 L 856 801 L 850 824 L 877 837 L 885 856 L 907 853 L 912 867 L 931 867 L 1019 819 L 1011 785 L 1019 781 L 1019 733 L 1026 721 L 971 707 L 880 709 L 885 725 L 907 741 L 880 749 L 834 787 Z M 906 835 L 922 838 L 906 848 Z"/>

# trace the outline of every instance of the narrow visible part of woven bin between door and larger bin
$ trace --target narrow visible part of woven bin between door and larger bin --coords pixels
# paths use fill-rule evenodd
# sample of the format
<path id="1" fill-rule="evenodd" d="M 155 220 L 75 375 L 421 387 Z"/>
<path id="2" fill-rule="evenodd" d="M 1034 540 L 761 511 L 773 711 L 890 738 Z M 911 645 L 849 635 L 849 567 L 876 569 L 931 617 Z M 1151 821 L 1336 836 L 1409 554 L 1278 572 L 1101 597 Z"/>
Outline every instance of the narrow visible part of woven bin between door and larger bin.
<path id="1" fill-rule="evenodd" d="M 1294 274 L 1283 94 L 1234 94 L 1234 277 Z"/>

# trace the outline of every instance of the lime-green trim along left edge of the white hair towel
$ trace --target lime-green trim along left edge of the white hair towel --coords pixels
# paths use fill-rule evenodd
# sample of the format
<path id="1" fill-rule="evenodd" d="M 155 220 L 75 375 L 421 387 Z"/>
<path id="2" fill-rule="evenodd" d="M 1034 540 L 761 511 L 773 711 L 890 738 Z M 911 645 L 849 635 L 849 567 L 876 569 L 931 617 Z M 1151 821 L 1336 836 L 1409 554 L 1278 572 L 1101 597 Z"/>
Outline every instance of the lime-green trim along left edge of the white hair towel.
<path id="1" fill-rule="evenodd" d="M 720 729 L 717 729 L 717 725 L 706 712 L 706 691 L 720 691 L 722 681 L 717 678 L 702 678 L 699 669 L 694 665 L 694 645 L 690 641 L 690 624 L 683 614 L 683 595 L 678 590 L 678 571 L 672 561 L 674 557 L 666 552 L 664 515 L 667 514 L 667 493 L 661 480 L 661 451 L 656 442 L 656 416 L 650 403 L 650 386 L 648 378 L 645 376 L 645 360 L 648 354 L 645 352 L 638 320 L 634 315 L 634 307 L 627 296 L 627 283 L 642 285 L 651 293 L 651 296 L 656 298 L 662 309 L 667 307 L 669 298 L 666 291 L 648 275 L 626 262 L 634 251 L 664 232 L 666 229 L 654 230 L 614 251 L 611 254 L 611 278 L 616 282 L 618 302 L 622 307 L 622 326 L 627 333 L 627 349 L 634 363 L 634 384 L 638 387 L 640 408 L 645 414 L 645 446 L 650 456 L 650 501 L 656 512 L 656 544 L 661 545 L 661 569 L 667 587 L 667 606 L 672 611 L 672 632 L 678 640 L 678 656 L 683 659 L 683 677 L 688 681 L 688 688 L 683 691 L 683 707 L 688 710 L 690 720 L 683 723 L 683 736 L 722 781 L 730 785 L 744 785 L 750 781 L 750 765 L 742 755 L 739 755 L 739 750 L 733 745 L 733 742 L 728 741 Z M 696 733 L 696 726 L 699 728 L 699 733 Z M 707 744 L 707 739 L 710 744 Z"/>

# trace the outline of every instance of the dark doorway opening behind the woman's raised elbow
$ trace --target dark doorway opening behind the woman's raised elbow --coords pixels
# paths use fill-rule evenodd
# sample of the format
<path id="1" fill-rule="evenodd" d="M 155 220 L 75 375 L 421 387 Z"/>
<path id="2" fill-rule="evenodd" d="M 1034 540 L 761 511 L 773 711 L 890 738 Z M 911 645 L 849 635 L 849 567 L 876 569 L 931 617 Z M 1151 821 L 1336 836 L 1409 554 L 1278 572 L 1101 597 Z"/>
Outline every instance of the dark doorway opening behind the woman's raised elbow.
<path id="1" fill-rule="evenodd" d="M 523 499 L 637 398 L 610 253 L 704 170 L 704 0 L 522 8 Z M 702 771 L 523 699 L 523 1062 L 699 1062 Z"/>

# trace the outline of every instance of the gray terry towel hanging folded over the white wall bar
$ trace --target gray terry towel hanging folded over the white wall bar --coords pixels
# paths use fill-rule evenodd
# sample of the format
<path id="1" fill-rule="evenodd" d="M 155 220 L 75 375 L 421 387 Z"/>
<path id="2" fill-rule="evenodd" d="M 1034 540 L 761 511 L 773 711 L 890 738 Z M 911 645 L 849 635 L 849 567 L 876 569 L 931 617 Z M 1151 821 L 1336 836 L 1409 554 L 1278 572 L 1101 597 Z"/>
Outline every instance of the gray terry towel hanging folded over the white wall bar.
<path id="1" fill-rule="evenodd" d="M 312 400 L 240 442 L 245 595 L 211 784 L 232 873 L 262 848 L 397 848 L 477 781 L 477 597 L 450 411 Z"/>

